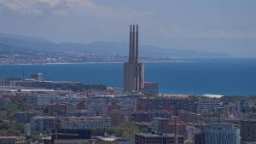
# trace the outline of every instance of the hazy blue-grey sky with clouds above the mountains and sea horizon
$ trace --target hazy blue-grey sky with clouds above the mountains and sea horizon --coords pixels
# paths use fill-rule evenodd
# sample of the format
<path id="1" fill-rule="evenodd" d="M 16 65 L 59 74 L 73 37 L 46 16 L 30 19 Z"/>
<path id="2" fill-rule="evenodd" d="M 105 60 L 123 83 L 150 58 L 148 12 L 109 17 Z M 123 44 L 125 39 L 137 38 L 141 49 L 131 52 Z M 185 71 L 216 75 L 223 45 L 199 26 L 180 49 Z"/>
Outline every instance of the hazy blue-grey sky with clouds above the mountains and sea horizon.
<path id="1" fill-rule="evenodd" d="M 0 0 L 0 32 L 55 42 L 127 42 L 256 57 L 255 0 Z"/>

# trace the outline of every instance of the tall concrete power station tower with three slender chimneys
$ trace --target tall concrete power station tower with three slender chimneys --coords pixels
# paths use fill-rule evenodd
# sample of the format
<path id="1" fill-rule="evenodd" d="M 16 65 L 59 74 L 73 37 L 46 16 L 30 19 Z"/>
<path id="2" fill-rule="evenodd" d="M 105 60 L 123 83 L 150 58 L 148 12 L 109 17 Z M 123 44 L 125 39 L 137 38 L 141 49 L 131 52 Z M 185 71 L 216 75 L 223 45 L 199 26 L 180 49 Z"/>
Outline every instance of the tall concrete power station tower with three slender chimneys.
<path id="1" fill-rule="evenodd" d="M 129 61 L 124 64 L 124 92 L 140 92 L 144 87 L 144 63 L 139 62 L 138 26 L 130 26 Z"/>

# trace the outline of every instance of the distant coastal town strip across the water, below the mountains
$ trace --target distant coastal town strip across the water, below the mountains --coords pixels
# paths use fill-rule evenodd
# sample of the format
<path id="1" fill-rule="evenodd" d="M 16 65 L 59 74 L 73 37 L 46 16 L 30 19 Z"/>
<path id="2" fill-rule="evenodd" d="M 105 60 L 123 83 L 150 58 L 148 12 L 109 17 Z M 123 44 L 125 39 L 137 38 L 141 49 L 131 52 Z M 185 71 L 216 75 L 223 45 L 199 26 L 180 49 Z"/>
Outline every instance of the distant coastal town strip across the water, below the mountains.
<path id="1" fill-rule="evenodd" d="M 1 45 L 0 45 L 1 48 Z M 38 52 L 20 54 L 19 51 L 5 54 L 0 50 L 0 65 L 46 65 L 86 62 L 124 62 L 127 56 L 121 55 L 78 55 L 61 52 Z M 143 57 L 144 61 L 177 61 L 169 57 Z"/>

